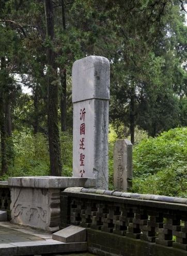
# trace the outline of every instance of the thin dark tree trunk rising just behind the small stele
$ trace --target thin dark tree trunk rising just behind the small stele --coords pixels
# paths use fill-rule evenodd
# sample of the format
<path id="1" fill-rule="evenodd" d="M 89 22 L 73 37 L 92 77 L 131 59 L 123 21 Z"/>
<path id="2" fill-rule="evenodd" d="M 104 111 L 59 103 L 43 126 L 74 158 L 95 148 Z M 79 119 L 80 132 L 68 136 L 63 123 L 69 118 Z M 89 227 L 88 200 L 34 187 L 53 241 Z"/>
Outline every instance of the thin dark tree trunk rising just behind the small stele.
<path id="1" fill-rule="evenodd" d="M 130 132 L 131 132 L 132 144 L 134 144 L 134 94 L 135 94 L 135 88 L 133 83 L 131 84 L 131 97 L 130 97 Z"/>

